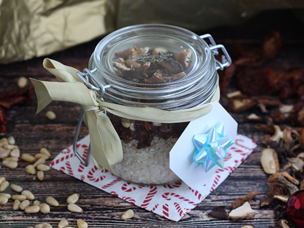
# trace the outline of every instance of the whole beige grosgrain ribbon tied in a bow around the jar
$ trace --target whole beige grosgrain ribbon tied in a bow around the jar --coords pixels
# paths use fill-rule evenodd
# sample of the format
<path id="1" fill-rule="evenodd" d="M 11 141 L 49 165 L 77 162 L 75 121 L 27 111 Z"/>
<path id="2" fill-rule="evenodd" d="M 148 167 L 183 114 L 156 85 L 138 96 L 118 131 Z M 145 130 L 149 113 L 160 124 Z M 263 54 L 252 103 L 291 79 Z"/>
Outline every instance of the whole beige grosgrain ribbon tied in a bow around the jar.
<path id="1" fill-rule="evenodd" d="M 97 168 L 105 168 L 114 173 L 111 165 L 123 160 L 123 149 L 117 132 L 106 110 L 122 118 L 157 122 L 189 122 L 206 115 L 212 105 L 205 104 L 190 109 L 166 111 L 151 107 L 129 107 L 102 101 L 98 93 L 87 88 L 78 78 L 78 70 L 55 60 L 44 59 L 43 67 L 54 74 L 60 82 L 39 81 L 31 78 L 37 95 L 39 113 L 52 101 L 68 101 L 81 105 L 85 111 L 85 123 L 90 133 L 93 161 Z M 211 101 L 219 100 L 219 87 Z M 89 159 L 89 158 L 87 158 Z"/>

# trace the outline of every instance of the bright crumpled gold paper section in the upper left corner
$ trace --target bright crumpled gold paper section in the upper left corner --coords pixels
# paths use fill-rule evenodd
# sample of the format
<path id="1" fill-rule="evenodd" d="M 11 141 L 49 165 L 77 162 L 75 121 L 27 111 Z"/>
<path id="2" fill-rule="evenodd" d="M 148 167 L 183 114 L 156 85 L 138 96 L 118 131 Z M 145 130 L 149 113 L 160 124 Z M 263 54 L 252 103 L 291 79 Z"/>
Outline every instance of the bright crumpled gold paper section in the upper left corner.
<path id="1" fill-rule="evenodd" d="M 116 0 L 0 0 L 0 63 L 64 50 L 115 29 Z"/>

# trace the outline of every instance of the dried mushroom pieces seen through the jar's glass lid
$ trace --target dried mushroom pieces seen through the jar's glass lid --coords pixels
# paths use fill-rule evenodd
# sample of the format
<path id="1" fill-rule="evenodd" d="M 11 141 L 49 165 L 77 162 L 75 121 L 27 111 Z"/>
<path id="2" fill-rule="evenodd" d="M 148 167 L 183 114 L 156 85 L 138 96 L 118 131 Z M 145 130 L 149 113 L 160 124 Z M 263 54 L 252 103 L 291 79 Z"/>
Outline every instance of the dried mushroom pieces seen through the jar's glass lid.
<path id="1" fill-rule="evenodd" d="M 132 47 L 115 53 L 112 59 L 116 75 L 128 81 L 161 84 L 183 78 L 192 69 L 192 51 L 174 53 L 163 47 Z"/>

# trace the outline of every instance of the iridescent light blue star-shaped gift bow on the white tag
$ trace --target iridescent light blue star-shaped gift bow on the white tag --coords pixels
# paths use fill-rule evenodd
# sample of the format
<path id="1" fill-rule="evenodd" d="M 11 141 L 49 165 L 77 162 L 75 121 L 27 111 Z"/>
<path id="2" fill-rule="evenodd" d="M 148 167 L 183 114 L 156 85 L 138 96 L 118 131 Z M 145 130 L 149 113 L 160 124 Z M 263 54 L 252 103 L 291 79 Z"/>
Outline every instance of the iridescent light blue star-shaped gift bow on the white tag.
<path id="1" fill-rule="evenodd" d="M 218 165 L 224 168 L 224 158 L 227 156 L 227 148 L 234 144 L 228 136 L 224 136 L 224 124 L 219 123 L 206 134 L 193 136 L 196 151 L 193 160 L 196 165 L 202 163 L 205 172 Z"/>

